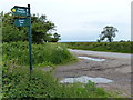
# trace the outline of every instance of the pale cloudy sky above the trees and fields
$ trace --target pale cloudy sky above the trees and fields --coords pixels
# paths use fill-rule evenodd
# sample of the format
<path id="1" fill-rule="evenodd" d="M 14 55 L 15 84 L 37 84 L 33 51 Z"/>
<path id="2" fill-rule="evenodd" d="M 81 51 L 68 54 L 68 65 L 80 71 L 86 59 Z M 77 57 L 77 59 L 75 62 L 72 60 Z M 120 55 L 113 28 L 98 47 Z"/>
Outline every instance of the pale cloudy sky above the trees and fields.
<path id="1" fill-rule="evenodd" d="M 132 0 L 1 0 L 0 11 L 31 6 L 57 26 L 61 41 L 96 41 L 104 27 L 117 28 L 114 41 L 131 40 Z"/>

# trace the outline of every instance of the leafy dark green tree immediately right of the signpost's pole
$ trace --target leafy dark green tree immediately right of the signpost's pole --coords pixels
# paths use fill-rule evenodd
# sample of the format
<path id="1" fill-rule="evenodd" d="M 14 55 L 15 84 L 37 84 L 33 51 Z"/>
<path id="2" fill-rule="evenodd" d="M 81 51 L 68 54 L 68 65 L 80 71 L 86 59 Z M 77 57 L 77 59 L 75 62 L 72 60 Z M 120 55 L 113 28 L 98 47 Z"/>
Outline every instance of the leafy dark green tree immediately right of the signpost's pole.
<path id="1" fill-rule="evenodd" d="M 49 42 L 52 31 L 55 30 L 55 24 L 47 20 L 47 16 L 32 17 L 32 40 L 37 43 Z"/>

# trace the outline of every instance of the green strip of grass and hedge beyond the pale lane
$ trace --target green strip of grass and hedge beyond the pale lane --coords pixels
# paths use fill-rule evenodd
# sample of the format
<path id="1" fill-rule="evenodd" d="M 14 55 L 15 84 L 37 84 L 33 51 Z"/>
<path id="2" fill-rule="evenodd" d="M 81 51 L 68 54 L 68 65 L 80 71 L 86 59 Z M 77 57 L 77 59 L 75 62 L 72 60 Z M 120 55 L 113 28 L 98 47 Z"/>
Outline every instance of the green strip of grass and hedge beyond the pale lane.
<path id="1" fill-rule="evenodd" d="M 71 49 L 133 53 L 133 42 L 66 42 L 65 44 Z"/>

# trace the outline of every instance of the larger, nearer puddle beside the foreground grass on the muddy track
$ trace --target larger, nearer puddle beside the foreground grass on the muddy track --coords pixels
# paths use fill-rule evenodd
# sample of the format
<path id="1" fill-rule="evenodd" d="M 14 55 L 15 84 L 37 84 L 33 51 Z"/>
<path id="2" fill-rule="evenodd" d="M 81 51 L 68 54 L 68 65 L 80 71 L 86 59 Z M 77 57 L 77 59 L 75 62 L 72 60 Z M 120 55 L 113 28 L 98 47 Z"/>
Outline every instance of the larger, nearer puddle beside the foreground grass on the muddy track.
<path id="1" fill-rule="evenodd" d="M 88 76 L 82 76 L 79 78 L 65 78 L 61 80 L 61 83 L 74 83 L 74 82 L 81 82 L 81 83 L 88 83 L 90 81 L 95 82 L 95 83 L 110 83 L 113 82 L 113 80 L 109 80 L 106 78 L 92 78 Z"/>

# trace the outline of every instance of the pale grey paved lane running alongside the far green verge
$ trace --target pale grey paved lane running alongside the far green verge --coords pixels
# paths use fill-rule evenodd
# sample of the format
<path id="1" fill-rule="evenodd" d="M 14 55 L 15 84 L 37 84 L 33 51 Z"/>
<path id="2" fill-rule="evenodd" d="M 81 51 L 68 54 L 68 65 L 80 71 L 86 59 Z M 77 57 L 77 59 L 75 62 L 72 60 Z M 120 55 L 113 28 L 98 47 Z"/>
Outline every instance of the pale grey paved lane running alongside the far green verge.
<path id="1" fill-rule="evenodd" d="M 123 60 L 131 60 L 133 54 L 130 53 L 115 53 L 115 52 L 100 52 L 100 51 L 86 51 L 86 50 L 74 50 L 69 49 L 70 52 L 74 53 L 75 56 L 91 56 L 91 57 L 100 57 L 100 58 L 112 58 L 112 59 L 123 59 Z"/>

